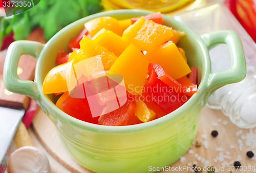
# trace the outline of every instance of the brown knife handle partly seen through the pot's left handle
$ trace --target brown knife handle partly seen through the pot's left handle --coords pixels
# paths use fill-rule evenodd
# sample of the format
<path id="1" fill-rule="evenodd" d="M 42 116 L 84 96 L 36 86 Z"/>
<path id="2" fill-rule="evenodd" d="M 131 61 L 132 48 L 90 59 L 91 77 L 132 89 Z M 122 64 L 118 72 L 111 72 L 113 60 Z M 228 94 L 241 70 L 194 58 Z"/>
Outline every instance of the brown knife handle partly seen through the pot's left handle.
<path id="1" fill-rule="evenodd" d="M 22 80 L 33 80 L 36 59 L 29 55 L 22 55 L 18 62 L 17 75 Z M 0 106 L 15 109 L 27 109 L 29 98 L 25 95 L 12 93 L 5 88 L 4 82 L 0 85 Z"/>

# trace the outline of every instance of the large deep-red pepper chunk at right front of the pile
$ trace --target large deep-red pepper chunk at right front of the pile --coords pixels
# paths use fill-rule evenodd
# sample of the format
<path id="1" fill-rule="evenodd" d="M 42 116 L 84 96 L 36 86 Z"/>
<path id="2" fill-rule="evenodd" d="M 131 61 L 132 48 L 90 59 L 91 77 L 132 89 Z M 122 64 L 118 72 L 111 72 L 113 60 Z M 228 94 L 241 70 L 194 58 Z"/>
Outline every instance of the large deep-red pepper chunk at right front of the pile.
<path id="1" fill-rule="evenodd" d="M 158 117 L 173 112 L 187 101 L 186 96 L 177 94 L 167 84 L 158 79 L 157 73 L 153 69 L 150 70 L 148 75 L 150 77 L 148 77 L 142 92 L 143 101 Z"/>

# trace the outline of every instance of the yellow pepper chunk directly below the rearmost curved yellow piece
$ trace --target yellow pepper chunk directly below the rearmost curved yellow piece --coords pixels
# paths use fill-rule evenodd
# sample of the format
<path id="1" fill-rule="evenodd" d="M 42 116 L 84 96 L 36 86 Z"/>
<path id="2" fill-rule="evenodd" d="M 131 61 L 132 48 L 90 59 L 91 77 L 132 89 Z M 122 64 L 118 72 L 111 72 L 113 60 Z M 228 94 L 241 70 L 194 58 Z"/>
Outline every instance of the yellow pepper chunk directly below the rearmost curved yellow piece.
<path id="1" fill-rule="evenodd" d="M 113 52 L 116 56 L 121 55 L 121 53 L 128 46 L 128 44 L 123 41 L 121 36 L 104 28 L 94 35 L 92 39 L 94 40 L 95 44 L 105 47 L 110 52 Z"/>

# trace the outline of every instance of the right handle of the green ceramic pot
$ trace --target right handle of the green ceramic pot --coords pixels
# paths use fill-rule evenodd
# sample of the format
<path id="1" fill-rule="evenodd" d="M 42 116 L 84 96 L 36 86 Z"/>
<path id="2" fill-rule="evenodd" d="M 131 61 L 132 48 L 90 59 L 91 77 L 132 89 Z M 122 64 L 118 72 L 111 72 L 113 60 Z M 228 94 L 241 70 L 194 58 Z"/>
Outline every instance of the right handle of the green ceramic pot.
<path id="1" fill-rule="evenodd" d="M 231 30 L 216 31 L 201 35 L 207 48 L 227 44 L 231 55 L 231 68 L 223 72 L 211 73 L 208 79 L 208 91 L 211 93 L 225 84 L 243 80 L 246 75 L 246 62 L 241 40 L 236 32 Z M 221 65 L 221 64 L 220 64 Z"/>

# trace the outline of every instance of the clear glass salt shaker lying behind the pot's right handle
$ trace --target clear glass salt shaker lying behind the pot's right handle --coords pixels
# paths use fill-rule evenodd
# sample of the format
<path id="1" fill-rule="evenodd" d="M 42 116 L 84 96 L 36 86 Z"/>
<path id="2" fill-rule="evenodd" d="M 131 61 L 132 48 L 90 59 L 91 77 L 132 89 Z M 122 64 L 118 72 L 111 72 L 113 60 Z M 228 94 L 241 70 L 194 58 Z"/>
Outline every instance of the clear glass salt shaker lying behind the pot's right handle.
<path id="1" fill-rule="evenodd" d="M 220 109 L 231 122 L 241 128 L 256 126 L 256 45 L 229 9 L 221 4 L 211 4 L 193 11 L 183 12 L 174 18 L 181 21 L 197 34 L 219 30 L 233 30 L 240 36 L 247 64 L 247 75 L 238 83 L 228 84 L 216 90 L 207 106 Z M 231 67 L 231 59 L 224 44 L 209 51 L 212 73 Z M 221 62 L 221 65 L 220 65 Z"/>

